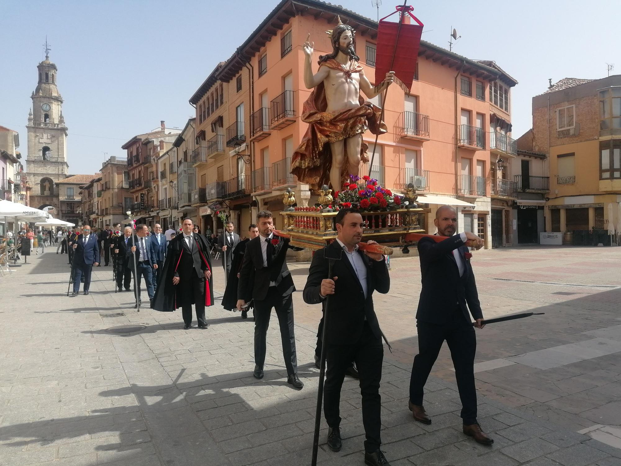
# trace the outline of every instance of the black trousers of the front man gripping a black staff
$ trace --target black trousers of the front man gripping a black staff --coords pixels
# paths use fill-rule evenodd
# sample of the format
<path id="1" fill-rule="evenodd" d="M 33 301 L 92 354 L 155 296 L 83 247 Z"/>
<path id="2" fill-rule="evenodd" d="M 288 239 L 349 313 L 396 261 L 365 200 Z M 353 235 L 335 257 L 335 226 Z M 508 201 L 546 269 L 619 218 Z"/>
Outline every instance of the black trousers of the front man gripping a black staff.
<path id="1" fill-rule="evenodd" d="M 379 450 L 381 437 L 381 396 L 379 381 L 382 378 L 382 361 L 384 347 L 381 338 L 377 338 L 369 324 L 365 322 L 358 342 L 353 345 L 330 344 L 327 350 L 327 370 L 324 385 L 324 414 L 330 427 L 341 423 L 338 404 L 345 370 L 351 361 L 356 362 L 360 373 L 360 393 L 362 395 L 362 423 L 365 426 L 365 450 L 369 453 Z"/>

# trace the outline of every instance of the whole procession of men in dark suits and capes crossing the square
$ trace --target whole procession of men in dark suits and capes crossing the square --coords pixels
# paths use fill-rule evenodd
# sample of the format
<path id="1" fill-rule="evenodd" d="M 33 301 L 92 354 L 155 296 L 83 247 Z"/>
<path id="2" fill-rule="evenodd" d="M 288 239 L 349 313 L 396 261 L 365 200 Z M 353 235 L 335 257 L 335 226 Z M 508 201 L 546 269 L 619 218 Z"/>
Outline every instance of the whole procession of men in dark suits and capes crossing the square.
<path id="1" fill-rule="evenodd" d="M 407 409 L 415 421 L 431 424 L 425 412 L 424 386 L 444 341 L 453 362 L 462 403 L 463 432 L 476 442 L 491 445 L 477 420 L 474 386 L 474 328 L 483 328 L 468 247 L 479 248 L 483 241 L 471 232 L 456 234 L 456 212 L 443 206 L 436 212 L 436 242 L 418 243 L 422 292 L 417 309 L 419 354 L 414 358 Z M 381 396 L 379 386 L 383 362 L 383 339 L 373 306 L 373 293 L 388 293 L 389 270 L 378 252 L 362 250 L 364 222 L 355 208 L 342 208 L 335 217 L 338 236 L 327 247 L 315 251 L 302 296 L 308 304 L 322 304 L 324 313 L 317 332 L 315 365 L 325 361 L 324 415 L 329 425 L 327 445 L 342 448 L 339 415 L 340 391 L 345 376 L 360 380 L 363 425 L 366 432 L 365 464 L 389 465 L 381 451 Z M 292 293 L 296 290 L 287 266 L 289 250 L 301 250 L 274 231 L 273 216 L 260 211 L 256 224 L 248 227 L 244 238 L 232 222 L 225 223 L 220 235 L 202 235 L 189 218 L 180 230 L 171 226 L 165 232 L 159 224 L 121 227 L 115 224 L 101 231 L 84 225 L 72 231 L 58 231 L 57 252 L 68 254 L 71 265 L 72 296 L 88 295 L 93 267 L 112 267 L 116 291 L 134 291 L 135 307 L 142 304 L 142 281 L 149 307 L 170 312 L 181 308 L 184 329 L 193 324 L 207 329 L 206 308 L 214 306 L 213 274 L 224 273 L 226 288 L 222 306 L 241 311 L 248 318 L 252 309 L 255 322 L 255 369 L 253 377 L 264 377 L 267 330 L 271 310 L 278 318 L 283 359 L 289 385 L 301 390 L 297 376 L 296 338 Z M 367 244 L 376 244 L 368 241 Z M 212 260 L 222 258 L 222 272 Z M 133 281 L 133 287 L 132 287 Z M 193 311 L 194 306 L 194 311 Z M 472 322 L 474 319 L 474 323 Z M 386 341 L 388 344 L 388 341 Z"/>

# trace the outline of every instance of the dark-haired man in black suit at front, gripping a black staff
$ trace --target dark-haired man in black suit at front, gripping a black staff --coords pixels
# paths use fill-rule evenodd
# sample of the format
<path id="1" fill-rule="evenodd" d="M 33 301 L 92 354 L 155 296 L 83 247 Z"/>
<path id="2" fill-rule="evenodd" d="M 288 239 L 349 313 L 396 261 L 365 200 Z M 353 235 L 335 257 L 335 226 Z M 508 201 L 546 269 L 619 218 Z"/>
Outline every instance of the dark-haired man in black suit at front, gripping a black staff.
<path id="1" fill-rule="evenodd" d="M 366 434 L 365 464 L 388 466 L 388 460 L 380 450 L 379 381 L 382 378 L 384 347 L 373 308 L 373 291 L 388 293 L 390 277 L 383 255 L 358 249 L 365 225 L 359 211 L 341 209 L 335 223 L 338 237 L 329 246 L 315 252 L 303 295 L 307 304 L 324 303 L 324 299 L 332 295 L 324 324 L 327 354 L 324 414 L 329 426 L 327 443 L 333 451 L 342 447 L 338 405 L 343 378 L 353 360 L 360 374 L 362 419 Z M 332 277 L 328 276 L 328 258 L 340 259 L 334 263 Z"/>

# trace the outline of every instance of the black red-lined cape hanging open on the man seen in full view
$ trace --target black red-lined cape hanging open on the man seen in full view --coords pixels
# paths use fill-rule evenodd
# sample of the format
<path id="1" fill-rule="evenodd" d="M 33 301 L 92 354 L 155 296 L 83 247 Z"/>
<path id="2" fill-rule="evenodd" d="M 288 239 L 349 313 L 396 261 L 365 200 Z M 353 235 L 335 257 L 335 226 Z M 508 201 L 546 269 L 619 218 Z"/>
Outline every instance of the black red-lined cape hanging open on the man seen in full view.
<path id="1" fill-rule="evenodd" d="M 211 268 L 211 256 L 209 255 L 209 246 L 207 241 L 202 235 L 194 234 L 196 244 L 199 246 L 199 254 L 201 255 L 202 262 L 207 265 L 207 268 Z M 166 260 L 164 261 L 163 269 L 161 272 L 161 278 L 158 280 L 158 286 L 155 290 L 155 296 L 153 297 L 152 309 L 156 311 L 170 312 L 175 311 L 181 307 L 183 299 L 177 299 L 177 287 L 173 285 L 173 276 L 179 265 L 182 254 L 188 254 L 183 250 L 183 234 L 179 234 L 168 243 L 168 250 L 166 251 Z M 180 298 L 180 297 L 179 297 Z M 191 299 L 194 303 L 193 297 L 184 297 L 185 299 Z M 205 306 L 214 305 L 214 276 L 212 275 L 209 280 L 205 280 Z"/>

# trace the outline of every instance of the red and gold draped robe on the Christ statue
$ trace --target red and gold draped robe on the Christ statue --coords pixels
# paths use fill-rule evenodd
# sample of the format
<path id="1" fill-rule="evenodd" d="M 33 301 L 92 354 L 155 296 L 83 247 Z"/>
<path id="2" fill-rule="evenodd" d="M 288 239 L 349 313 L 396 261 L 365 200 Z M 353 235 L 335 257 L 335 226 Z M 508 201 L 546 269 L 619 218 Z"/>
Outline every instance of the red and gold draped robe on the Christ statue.
<path id="1" fill-rule="evenodd" d="M 355 63 L 351 70 L 347 70 L 336 60 L 330 58 L 319 66 L 328 66 L 332 70 L 342 71 L 351 76 L 351 73 L 360 73 L 362 66 Z M 386 124 L 381 121 L 382 109 L 366 102 L 360 96 L 360 107 L 346 110 L 327 112 L 324 83 L 313 89 L 311 96 L 304 102 L 302 121 L 309 124 L 302 142 L 291 159 L 291 173 L 297 176 L 302 183 L 310 185 L 311 190 L 317 191 L 322 185 L 330 184 L 330 168 L 332 167 L 332 152 L 330 142 L 337 142 L 348 137 L 362 134 L 367 129 L 373 134 L 384 134 L 388 131 Z M 360 161 L 369 161 L 366 156 L 368 145 L 360 145 Z M 347 146 L 343 157 L 341 171 L 342 181 L 350 175 L 348 171 Z M 340 190 L 341 186 L 332 186 L 332 190 Z"/>

